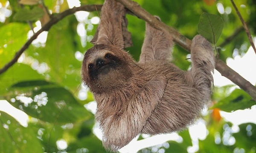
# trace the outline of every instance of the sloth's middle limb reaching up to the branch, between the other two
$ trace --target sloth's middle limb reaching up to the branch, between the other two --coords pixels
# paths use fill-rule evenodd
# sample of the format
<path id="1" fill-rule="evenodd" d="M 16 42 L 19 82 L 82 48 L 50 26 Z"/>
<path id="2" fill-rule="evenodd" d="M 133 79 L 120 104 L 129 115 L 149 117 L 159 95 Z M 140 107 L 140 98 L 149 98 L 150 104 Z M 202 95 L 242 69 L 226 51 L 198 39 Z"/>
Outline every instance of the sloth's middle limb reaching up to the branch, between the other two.
<path id="1" fill-rule="evenodd" d="M 160 20 L 159 17 L 157 19 Z M 173 44 L 172 36 L 167 31 L 158 30 L 146 23 L 139 62 L 171 59 Z"/>

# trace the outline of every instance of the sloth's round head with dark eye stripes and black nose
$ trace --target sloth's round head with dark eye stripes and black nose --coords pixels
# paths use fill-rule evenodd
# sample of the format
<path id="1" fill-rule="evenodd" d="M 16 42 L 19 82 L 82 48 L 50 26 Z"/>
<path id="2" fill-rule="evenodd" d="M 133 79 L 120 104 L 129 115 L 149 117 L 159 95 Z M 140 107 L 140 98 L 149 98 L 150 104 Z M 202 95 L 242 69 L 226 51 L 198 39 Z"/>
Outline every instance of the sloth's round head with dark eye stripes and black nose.
<path id="1" fill-rule="evenodd" d="M 134 59 L 113 45 L 99 44 L 84 54 L 81 75 L 93 93 L 112 91 L 132 76 Z"/>

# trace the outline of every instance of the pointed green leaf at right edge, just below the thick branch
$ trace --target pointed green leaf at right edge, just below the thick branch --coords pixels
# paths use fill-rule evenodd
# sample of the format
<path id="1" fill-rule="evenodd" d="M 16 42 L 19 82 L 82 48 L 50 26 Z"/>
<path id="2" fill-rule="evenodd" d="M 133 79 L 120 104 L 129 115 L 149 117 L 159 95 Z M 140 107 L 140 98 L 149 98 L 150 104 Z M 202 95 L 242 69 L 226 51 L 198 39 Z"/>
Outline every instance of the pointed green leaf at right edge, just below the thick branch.
<path id="1" fill-rule="evenodd" d="M 219 108 L 222 111 L 231 112 L 239 109 L 250 108 L 256 102 L 243 90 L 236 89 L 229 96 L 220 100 L 212 108 Z"/>

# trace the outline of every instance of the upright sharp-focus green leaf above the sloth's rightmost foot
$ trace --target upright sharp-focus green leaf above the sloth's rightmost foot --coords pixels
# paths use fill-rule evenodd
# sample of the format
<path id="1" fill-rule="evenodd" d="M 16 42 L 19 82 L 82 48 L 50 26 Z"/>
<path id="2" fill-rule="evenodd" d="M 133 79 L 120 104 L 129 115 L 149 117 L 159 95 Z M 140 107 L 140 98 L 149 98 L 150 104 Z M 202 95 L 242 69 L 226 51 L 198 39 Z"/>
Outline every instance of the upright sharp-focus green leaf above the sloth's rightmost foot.
<path id="1" fill-rule="evenodd" d="M 198 33 L 216 44 L 223 29 L 223 20 L 215 14 L 203 13 L 198 23 Z"/>

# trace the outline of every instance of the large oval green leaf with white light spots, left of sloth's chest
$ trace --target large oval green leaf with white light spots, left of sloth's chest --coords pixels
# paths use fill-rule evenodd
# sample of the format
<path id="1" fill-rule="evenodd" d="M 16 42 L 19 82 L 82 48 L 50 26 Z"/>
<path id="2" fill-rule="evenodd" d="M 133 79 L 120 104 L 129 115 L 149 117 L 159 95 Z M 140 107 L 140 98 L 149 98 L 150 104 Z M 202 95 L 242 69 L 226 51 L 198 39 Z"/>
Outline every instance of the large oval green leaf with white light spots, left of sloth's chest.
<path id="1" fill-rule="evenodd" d="M 70 91 L 42 80 L 13 85 L 6 99 L 28 115 L 46 122 L 71 123 L 92 116 Z"/>

